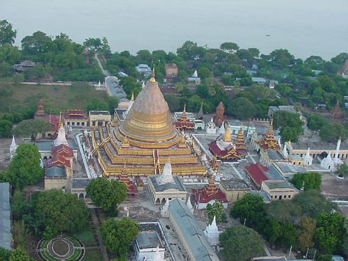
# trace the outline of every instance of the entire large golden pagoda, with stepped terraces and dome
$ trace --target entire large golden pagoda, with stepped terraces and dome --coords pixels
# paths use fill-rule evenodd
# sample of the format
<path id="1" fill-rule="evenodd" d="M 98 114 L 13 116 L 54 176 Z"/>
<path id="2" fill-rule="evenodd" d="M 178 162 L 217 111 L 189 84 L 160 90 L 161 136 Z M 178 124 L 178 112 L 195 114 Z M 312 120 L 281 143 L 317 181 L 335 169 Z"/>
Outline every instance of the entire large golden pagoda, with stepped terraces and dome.
<path id="1" fill-rule="evenodd" d="M 159 174 L 169 157 L 173 175 L 206 175 L 205 166 L 192 155 L 184 136 L 173 125 L 155 72 L 134 100 L 125 121 L 93 129 L 90 145 L 98 165 L 96 171 L 106 177 L 119 176 L 124 164 L 128 176 Z"/>

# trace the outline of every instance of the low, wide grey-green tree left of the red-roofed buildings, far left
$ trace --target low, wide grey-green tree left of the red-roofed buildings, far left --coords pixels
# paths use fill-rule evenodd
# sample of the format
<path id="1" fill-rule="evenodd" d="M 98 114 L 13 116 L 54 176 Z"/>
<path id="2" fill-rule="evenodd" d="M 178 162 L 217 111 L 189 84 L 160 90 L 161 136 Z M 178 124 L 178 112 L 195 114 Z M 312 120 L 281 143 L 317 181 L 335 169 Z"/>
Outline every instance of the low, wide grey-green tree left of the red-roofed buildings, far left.
<path id="1" fill-rule="evenodd" d="M 47 120 L 32 119 L 23 120 L 13 128 L 13 134 L 20 137 L 30 137 L 31 134 L 45 133 L 51 129 L 51 125 Z"/>

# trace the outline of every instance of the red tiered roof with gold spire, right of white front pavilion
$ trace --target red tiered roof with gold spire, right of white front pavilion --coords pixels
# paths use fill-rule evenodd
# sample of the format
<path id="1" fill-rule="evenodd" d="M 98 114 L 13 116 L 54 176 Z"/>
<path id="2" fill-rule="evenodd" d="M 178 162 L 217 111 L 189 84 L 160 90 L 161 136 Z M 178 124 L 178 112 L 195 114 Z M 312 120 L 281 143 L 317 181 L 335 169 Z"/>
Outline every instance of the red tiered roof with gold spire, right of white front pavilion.
<path id="1" fill-rule="evenodd" d="M 202 189 L 192 189 L 193 196 L 198 203 L 209 203 L 212 200 L 227 203 L 226 195 L 215 186 L 214 175 L 209 180 L 209 184 Z"/>

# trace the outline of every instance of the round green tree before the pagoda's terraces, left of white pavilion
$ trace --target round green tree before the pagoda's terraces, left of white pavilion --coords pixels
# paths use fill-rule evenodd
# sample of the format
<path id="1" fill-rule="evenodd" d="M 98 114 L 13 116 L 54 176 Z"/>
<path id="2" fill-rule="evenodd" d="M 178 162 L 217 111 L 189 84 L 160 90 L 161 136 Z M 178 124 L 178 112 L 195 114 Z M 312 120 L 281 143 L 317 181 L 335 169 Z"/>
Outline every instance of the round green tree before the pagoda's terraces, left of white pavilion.
<path id="1" fill-rule="evenodd" d="M 90 180 L 86 193 L 90 195 L 90 200 L 96 207 L 112 212 L 127 198 L 127 187 L 118 180 L 109 181 L 105 177 L 97 177 Z"/>

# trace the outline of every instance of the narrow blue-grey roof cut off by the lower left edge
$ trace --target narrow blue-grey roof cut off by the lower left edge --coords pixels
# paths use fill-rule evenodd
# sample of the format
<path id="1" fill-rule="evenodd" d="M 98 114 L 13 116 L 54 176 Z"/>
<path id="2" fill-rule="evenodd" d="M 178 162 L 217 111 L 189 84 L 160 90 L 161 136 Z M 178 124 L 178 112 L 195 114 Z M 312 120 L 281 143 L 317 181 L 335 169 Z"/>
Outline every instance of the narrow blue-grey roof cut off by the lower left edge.
<path id="1" fill-rule="evenodd" d="M 0 183 L 0 247 L 11 250 L 10 183 Z"/>

